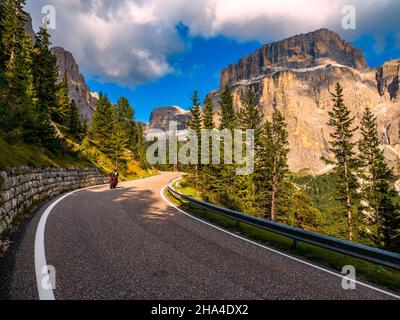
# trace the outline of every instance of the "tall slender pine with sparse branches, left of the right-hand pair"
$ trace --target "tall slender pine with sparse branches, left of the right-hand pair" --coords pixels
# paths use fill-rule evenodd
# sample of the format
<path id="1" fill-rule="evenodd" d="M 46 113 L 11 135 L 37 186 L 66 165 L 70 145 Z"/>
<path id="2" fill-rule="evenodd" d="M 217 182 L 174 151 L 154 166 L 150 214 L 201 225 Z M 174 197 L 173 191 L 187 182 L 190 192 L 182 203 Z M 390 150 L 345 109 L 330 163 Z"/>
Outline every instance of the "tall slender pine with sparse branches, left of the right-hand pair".
<path id="1" fill-rule="evenodd" d="M 350 116 L 350 111 L 344 104 L 343 87 L 340 83 L 336 84 L 333 103 L 333 108 L 329 112 L 328 125 L 333 129 L 329 150 L 333 153 L 335 160 L 325 158 L 323 160 L 327 164 L 335 165 L 339 177 L 340 200 L 344 204 L 344 214 L 347 216 L 348 239 L 352 241 L 354 239 L 354 202 L 358 186 L 356 177 L 358 161 L 354 151 L 356 144 L 353 142 L 353 135 L 357 128 L 353 128 L 355 118 Z"/>

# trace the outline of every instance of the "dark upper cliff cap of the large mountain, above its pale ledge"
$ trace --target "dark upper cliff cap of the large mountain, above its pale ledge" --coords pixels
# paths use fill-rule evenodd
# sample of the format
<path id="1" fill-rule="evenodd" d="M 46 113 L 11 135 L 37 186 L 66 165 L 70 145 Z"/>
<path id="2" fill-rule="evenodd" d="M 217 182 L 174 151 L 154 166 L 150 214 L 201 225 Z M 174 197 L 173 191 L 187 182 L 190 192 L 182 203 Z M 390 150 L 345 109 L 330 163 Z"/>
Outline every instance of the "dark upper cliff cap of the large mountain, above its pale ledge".
<path id="1" fill-rule="evenodd" d="M 311 68 L 338 63 L 355 69 L 368 64 L 361 50 L 338 34 L 321 29 L 267 44 L 222 71 L 221 87 L 273 73 L 281 69 Z"/>

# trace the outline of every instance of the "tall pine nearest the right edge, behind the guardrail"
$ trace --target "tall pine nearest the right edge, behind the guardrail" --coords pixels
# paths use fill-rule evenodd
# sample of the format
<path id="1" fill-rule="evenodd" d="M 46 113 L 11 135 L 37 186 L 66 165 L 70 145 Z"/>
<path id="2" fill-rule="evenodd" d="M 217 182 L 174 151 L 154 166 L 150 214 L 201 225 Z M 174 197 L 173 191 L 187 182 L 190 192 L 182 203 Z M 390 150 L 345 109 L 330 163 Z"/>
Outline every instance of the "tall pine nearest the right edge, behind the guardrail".
<path id="1" fill-rule="evenodd" d="M 399 208 L 393 202 L 397 196 L 393 186 L 395 176 L 386 164 L 380 148 L 377 121 L 367 107 L 361 122 L 362 139 L 359 141 L 359 161 L 362 178 L 362 209 L 366 213 L 366 234 L 381 248 L 392 249 L 400 236 Z"/>

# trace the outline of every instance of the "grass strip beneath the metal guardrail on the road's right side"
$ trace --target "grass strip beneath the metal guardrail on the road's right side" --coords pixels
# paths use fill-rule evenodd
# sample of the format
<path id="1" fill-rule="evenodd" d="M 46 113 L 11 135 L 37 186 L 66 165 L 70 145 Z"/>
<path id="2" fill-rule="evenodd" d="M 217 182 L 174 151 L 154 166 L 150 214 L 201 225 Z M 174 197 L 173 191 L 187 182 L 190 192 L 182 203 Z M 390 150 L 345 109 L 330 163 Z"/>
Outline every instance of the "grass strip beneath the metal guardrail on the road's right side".
<path id="1" fill-rule="evenodd" d="M 191 187 L 176 187 L 176 189 L 184 194 L 202 200 L 201 196 L 199 196 L 199 194 Z M 354 266 L 357 271 L 357 280 L 367 281 L 395 292 L 400 292 L 400 271 L 319 248 L 307 243 L 299 243 L 297 248 L 293 248 L 293 240 L 291 239 L 244 223 L 237 225 L 233 219 L 198 208 L 182 199 L 175 198 L 167 191 L 166 193 L 169 199 L 183 210 L 227 230 L 239 233 L 247 238 L 256 240 L 278 250 L 288 252 L 294 256 L 298 256 L 299 258 L 305 258 L 311 262 L 329 267 L 339 273 L 341 273 L 342 268 L 346 265 Z"/>

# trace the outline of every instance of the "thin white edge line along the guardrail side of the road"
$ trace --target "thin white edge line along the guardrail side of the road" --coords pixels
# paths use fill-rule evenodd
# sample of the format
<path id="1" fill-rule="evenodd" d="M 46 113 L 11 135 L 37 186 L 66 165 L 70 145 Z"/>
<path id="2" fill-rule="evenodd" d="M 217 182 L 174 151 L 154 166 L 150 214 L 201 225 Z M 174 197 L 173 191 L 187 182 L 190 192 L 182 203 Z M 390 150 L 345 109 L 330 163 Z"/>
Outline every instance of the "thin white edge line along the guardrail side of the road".
<path id="1" fill-rule="evenodd" d="M 260 244 L 260 243 L 257 243 L 257 242 L 255 242 L 255 241 L 250 240 L 250 239 L 247 239 L 247 238 L 241 237 L 241 236 L 239 236 L 239 235 L 237 235 L 237 234 L 234 234 L 234 233 L 232 233 L 232 232 L 229 232 L 229 231 L 227 231 L 227 230 L 225 230 L 225 229 L 223 229 L 223 228 L 220 228 L 220 227 L 218 227 L 218 226 L 216 226 L 216 225 L 214 225 L 214 224 L 212 224 L 212 223 L 209 223 L 209 222 L 206 222 L 206 221 L 204 221 L 204 220 L 202 220 L 202 219 L 196 218 L 196 217 L 193 216 L 192 214 L 189 214 L 189 213 L 183 211 L 182 209 L 180 209 L 179 207 L 177 207 L 176 205 L 174 205 L 172 202 L 170 202 L 170 201 L 165 197 L 164 191 L 167 189 L 167 187 L 168 187 L 168 185 L 161 189 L 161 191 L 160 191 L 161 197 L 162 197 L 162 198 L 164 199 L 164 201 L 167 202 L 171 207 L 173 207 L 173 208 L 175 208 L 176 210 L 180 211 L 180 212 L 183 213 L 184 215 L 186 215 L 186 216 L 188 216 L 188 217 L 190 217 L 190 218 L 192 218 L 192 219 L 194 219 L 194 220 L 196 220 L 196 221 L 202 222 L 202 223 L 204 223 L 204 224 L 206 224 L 206 225 L 208 225 L 208 226 L 210 226 L 210 227 L 212 227 L 212 228 L 215 228 L 215 229 L 217 229 L 217 230 L 219 230 L 219 231 L 222 231 L 222 232 L 224 232 L 224 233 L 227 233 L 227 234 L 229 234 L 229 235 L 231 235 L 231 236 L 233 236 L 233 237 L 235 237 L 235 238 L 241 239 L 241 240 L 243 240 L 243 241 L 246 241 L 246 242 L 249 242 L 249 243 L 251 243 L 251 244 L 254 244 L 254 245 L 258 246 L 258 247 L 261 247 L 261 248 L 263 248 L 263 249 L 265 249 L 265 250 L 271 251 L 271 252 L 273 252 L 273 253 L 279 254 L 279 255 L 284 256 L 284 257 L 286 257 L 286 258 L 289 258 L 289 259 L 292 259 L 292 260 L 294 260 L 294 261 L 300 262 L 300 263 L 302 263 L 302 264 L 305 264 L 305 265 L 307 265 L 307 266 L 309 266 L 309 267 L 318 269 L 318 270 L 320 270 L 320 271 L 329 273 L 329 274 L 334 275 L 334 276 L 336 276 L 336 277 L 339 277 L 339 278 L 342 278 L 342 279 L 344 278 L 344 276 L 343 276 L 342 274 L 333 272 L 333 271 L 328 270 L 328 269 L 324 269 L 324 268 L 322 268 L 322 267 L 320 267 L 320 266 L 317 266 L 317 265 L 315 265 L 315 264 L 312 264 L 312 263 L 309 263 L 309 262 L 307 262 L 307 261 L 304 261 L 304 260 L 295 258 L 295 257 L 293 257 L 293 256 L 291 256 L 291 255 L 288 255 L 288 254 L 285 254 L 285 253 L 283 253 L 283 252 L 281 252 L 281 251 L 278 251 L 278 250 L 269 248 L 269 247 L 264 246 L 264 245 L 262 245 L 262 244 Z M 391 296 L 391 297 L 393 297 L 393 298 L 400 299 L 400 296 L 398 296 L 398 295 L 396 295 L 396 294 L 394 294 L 394 293 L 391 293 L 391 292 L 388 292 L 388 291 L 385 291 L 385 290 L 376 288 L 376 287 L 374 287 L 374 286 L 371 286 L 371 285 L 369 285 L 369 284 L 366 284 L 366 283 L 361 282 L 361 281 L 358 281 L 358 280 L 355 280 L 354 282 L 355 282 L 356 284 L 359 284 L 359 285 L 361 285 L 361 286 L 364 286 L 364 287 L 366 287 L 366 288 L 368 288 L 368 289 L 372 289 L 372 290 L 375 290 L 375 291 L 377 291 L 377 292 L 380 292 L 380 293 L 386 294 L 386 295 L 388 295 L 388 296 Z"/>

